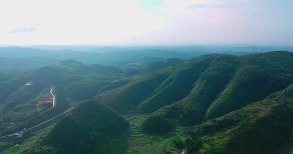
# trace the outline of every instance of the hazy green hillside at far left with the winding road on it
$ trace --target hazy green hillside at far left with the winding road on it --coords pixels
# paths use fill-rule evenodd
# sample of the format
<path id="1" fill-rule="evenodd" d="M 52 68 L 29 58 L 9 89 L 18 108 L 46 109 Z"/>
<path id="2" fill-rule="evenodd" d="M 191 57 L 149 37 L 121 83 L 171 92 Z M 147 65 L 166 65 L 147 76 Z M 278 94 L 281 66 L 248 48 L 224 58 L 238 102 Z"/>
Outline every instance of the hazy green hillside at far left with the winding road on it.
<path id="1" fill-rule="evenodd" d="M 86 65 L 76 60 L 64 60 L 37 69 L 0 72 L 1 132 L 19 130 L 45 121 L 99 94 L 107 84 L 125 78 L 124 72 L 118 68 Z M 25 85 L 27 82 L 34 84 Z M 55 108 L 43 113 L 51 104 L 39 104 L 38 98 L 51 97 L 51 86 L 64 101 L 56 101 Z"/>

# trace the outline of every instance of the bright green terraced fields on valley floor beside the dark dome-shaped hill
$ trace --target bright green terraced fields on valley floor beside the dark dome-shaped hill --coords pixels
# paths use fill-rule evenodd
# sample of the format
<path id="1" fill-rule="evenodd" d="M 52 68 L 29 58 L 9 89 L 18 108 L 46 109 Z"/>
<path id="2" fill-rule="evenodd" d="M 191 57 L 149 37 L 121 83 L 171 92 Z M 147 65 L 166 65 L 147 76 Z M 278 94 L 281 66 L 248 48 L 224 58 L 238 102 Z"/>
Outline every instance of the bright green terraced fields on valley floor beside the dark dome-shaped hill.
<path id="1" fill-rule="evenodd" d="M 150 114 L 128 113 L 123 117 L 130 122 L 130 129 L 119 138 L 107 142 L 100 153 L 107 154 L 177 154 L 180 149 L 173 144 L 174 135 L 183 130 L 177 127 L 166 134 L 150 135 L 143 133 L 139 127 Z"/>

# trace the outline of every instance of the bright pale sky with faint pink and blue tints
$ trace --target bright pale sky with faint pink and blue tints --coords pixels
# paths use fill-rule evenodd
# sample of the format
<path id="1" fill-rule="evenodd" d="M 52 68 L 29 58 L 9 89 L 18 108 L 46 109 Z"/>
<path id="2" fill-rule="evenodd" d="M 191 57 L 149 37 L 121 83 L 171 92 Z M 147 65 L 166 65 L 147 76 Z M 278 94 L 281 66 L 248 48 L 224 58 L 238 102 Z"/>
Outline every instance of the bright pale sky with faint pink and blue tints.
<path id="1" fill-rule="evenodd" d="M 292 0 L 0 0 L 0 45 L 293 46 Z"/>

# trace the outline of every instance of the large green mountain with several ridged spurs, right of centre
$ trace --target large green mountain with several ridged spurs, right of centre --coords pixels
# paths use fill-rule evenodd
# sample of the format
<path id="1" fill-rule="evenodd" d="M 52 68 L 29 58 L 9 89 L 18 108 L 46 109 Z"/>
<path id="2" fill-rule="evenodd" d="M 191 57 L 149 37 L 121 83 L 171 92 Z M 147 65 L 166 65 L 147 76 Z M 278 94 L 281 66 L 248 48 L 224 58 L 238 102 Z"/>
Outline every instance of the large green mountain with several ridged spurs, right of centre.
<path id="1" fill-rule="evenodd" d="M 203 56 L 138 76 L 96 99 L 120 112 L 155 112 L 191 126 L 286 88 L 293 82 L 292 61 L 284 51 Z"/>

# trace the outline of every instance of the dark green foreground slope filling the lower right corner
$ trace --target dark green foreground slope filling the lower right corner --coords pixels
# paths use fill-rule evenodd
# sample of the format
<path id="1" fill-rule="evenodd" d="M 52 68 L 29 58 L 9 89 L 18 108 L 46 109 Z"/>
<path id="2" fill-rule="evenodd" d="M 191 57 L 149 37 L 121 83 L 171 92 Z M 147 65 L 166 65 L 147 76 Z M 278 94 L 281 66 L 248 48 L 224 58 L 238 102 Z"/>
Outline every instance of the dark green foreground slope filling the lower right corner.
<path id="1" fill-rule="evenodd" d="M 180 134 L 181 142 L 200 153 L 275 153 L 292 137 L 293 85 L 192 127 Z"/>

